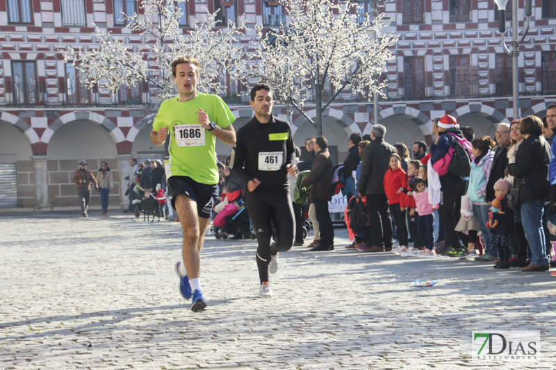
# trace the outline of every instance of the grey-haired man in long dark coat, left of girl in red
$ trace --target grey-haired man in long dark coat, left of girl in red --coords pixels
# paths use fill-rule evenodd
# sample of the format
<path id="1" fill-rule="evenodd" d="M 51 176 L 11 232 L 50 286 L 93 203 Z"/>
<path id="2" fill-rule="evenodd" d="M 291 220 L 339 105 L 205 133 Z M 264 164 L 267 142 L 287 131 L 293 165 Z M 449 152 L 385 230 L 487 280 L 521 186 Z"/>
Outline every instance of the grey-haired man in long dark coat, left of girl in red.
<path id="1" fill-rule="evenodd" d="M 367 244 L 360 246 L 363 252 L 382 252 L 392 250 L 392 221 L 388 198 L 384 192 L 384 174 L 389 169 L 391 154 L 395 148 L 384 142 L 386 127 L 376 124 L 370 129 L 370 144 L 363 151 L 361 175 L 357 183 L 359 198 L 367 197 L 367 210 L 370 219 Z"/>

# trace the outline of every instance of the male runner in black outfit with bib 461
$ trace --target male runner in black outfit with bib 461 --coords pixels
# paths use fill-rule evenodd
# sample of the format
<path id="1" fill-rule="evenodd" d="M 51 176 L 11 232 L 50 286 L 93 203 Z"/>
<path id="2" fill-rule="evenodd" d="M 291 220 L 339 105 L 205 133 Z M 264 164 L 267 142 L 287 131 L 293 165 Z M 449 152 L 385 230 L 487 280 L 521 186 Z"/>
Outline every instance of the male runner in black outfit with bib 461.
<path id="1" fill-rule="evenodd" d="M 289 251 L 295 235 L 295 221 L 289 194 L 288 173 L 297 175 L 291 126 L 272 115 L 272 90 L 258 84 L 251 90 L 255 117 L 240 128 L 231 151 L 231 170 L 247 187 L 245 203 L 259 247 L 259 297 L 272 297 L 268 274 L 278 270 L 278 253 Z M 245 161 L 245 162 L 244 162 Z M 272 224 L 277 240 L 270 244 Z"/>

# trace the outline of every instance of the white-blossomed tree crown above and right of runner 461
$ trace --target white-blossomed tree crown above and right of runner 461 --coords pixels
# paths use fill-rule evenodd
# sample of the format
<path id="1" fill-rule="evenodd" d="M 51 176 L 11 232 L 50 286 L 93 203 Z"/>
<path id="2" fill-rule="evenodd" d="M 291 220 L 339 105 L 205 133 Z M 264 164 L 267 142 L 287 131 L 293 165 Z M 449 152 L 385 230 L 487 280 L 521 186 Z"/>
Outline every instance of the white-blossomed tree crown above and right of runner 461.
<path id="1" fill-rule="evenodd" d="M 322 111 L 341 92 L 350 88 L 367 99 L 382 89 L 379 81 L 386 61 L 394 58 L 389 50 L 397 38 L 379 34 L 382 15 L 358 22 L 359 2 L 346 0 L 279 0 L 291 22 L 279 27 L 277 37 L 256 31 L 261 38 L 250 60 L 248 73 L 253 79 L 269 83 L 279 101 L 291 103 L 322 135 Z M 274 42 L 271 42 L 274 41 Z M 322 101 L 327 83 L 334 89 Z M 316 101 L 316 122 L 306 114 L 305 102 Z"/>

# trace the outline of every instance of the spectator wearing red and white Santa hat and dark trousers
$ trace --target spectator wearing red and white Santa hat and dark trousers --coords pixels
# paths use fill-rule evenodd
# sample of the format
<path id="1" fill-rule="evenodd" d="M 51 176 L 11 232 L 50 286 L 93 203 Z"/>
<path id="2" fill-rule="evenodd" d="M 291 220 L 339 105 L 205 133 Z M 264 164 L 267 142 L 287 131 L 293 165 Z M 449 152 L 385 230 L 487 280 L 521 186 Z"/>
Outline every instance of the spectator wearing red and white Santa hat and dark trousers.
<path id="1" fill-rule="evenodd" d="M 463 137 L 455 117 L 445 115 L 439 119 L 437 124 L 439 136 L 430 146 L 430 165 L 444 158 L 450 146 L 453 147 L 457 137 Z M 451 133 L 452 135 L 448 135 Z M 459 220 L 459 203 L 461 196 L 466 192 L 466 180 L 457 174 L 448 171 L 447 174 L 440 176 L 441 202 L 439 216 L 445 232 L 445 245 L 436 249 L 436 253 L 452 253 L 463 251 L 463 245 L 467 244 L 466 236 L 457 233 L 455 227 Z M 461 238 L 461 242 L 460 239 Z"/>

